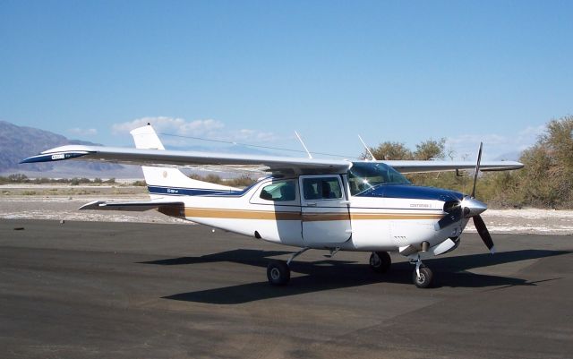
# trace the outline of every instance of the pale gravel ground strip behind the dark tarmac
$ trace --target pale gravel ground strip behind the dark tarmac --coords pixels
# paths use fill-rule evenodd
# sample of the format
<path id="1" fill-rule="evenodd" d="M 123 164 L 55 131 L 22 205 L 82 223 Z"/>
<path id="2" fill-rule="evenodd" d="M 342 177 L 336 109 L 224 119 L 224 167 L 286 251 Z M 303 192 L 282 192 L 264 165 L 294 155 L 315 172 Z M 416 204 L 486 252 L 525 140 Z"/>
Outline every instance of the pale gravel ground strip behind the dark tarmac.
<path id="1" fill-rule="evenodd" d="M 0 218 L 192 224 L 154 210 L 78 210 L 81 205 L 96 200 L 148 201 L 144 187 L 2 185 L 0 193 Z M 573 235 L 573 210 L 488 209 L 482 217 L 492 233 Z M 475 232 L 471 221 L 466 231 Z"/>

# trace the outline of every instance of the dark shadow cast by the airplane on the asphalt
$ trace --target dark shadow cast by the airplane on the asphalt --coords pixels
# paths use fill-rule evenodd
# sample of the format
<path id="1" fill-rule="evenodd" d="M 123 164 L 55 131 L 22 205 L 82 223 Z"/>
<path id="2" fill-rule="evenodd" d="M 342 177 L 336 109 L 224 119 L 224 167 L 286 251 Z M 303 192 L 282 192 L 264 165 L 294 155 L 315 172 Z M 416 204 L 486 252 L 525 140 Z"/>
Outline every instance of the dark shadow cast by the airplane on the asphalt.
<path id="1" fill-rule="evenodd" d="M 232 261 L 266 268 L 269 257 L 287 253 L 290 252 L 240 249 L 208 254 L 201 257 L 180 257 L 142 263 L 155 265 L 189 265 L 205 262 Z M 467 270 L 516 261 L 543 259 L 568 253 L 570 252 L 530 249 L 498 252 L 495 255 L 483 253 L 437 258 L 426 260 L 424 263 L 432 268 L 432 271 L 435 273 L 436 287 L 535 286 L 537 282 L 528 282 L 526 279 L 475 274 Z M 197 303 L 238 304 L 375 283 L 412 285 L 413 269 L 414 266 L 406 261 L 393 263 L 392 268 L 386 274 L 373 272 L 365 262 L 333 260 L 312 262 L 293 261 L 291 263 L 293 277 L 288 286 L 270 286 L 267 281 L 261 281 L 168 295 L 164 298 Z M 304 275 L 298 276 L 295 273 Z M 559 278 L 548 278 L 545 280 L 554 279 Z"/>

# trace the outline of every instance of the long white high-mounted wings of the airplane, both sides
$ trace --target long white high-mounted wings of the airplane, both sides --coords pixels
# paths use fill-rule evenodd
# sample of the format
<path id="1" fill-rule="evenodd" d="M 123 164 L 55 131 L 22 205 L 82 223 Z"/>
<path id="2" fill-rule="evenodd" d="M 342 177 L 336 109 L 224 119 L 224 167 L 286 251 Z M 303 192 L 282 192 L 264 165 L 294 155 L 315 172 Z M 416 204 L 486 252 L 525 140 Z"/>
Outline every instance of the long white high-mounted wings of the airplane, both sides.
<path id="1" fill-rule="evenodd" d="M 210 167 L 227 166 L 240 169 L 256 167 L 261 172 L 275 174 L 343 174 L 352 167 L 352 162 L 342 159 L 288 158 L 228 153 L 192 152 L 181 150 L 142 150 L 122 147 L 67 145 L 25 158 L 21 163 L 52 162 L 64 159 L 107 161 L 129 165 L 158 167 Z M 371 162 L 371 161 L 368 161 Z M 469 170 L 475 162 L 469 161 L 372 161 L 382 162 L 401 173 L 441 172 Z M 482 162 L 482 171 L 504 171 L 523 167 L 519 162 Z"/>

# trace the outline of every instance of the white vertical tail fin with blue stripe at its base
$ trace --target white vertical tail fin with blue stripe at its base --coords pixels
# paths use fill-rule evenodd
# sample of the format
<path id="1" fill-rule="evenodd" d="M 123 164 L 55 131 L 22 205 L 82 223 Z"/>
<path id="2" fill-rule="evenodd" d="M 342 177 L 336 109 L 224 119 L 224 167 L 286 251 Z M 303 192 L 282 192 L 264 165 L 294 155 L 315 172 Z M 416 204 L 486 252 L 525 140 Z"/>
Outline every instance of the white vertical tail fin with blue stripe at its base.
<path id="1" fill-rule="evenodd" d="M 163 143 L 150 124 L 132 132 L 135 148 L 143 150 L 165 150 Z M 213 192 L 236 191 L 235 188 L 220 184 L 197 181 L 184 175 L 175 167 L 141 166 L 145 182 L 152 200 L 176 194 L 210 194 Z"/>

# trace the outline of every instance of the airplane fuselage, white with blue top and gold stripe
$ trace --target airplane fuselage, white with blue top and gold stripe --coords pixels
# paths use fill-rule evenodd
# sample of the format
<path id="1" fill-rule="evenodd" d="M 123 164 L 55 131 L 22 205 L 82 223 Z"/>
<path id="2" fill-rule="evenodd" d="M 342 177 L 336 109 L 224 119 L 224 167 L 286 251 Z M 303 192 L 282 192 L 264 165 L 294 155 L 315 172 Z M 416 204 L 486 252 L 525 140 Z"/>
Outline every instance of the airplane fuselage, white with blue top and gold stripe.
<path id="1" fill-rule="evenodd" d="M 243 191 L 150 186 L 154 200 L 184 202 L 166 212 L 265 241 L 344 251 L 431 249 L 461 235 L 466 220 L 440 229 L 444 203 L 458 192 L 412 184 L 368 184 L 352 174 L 265 178 Z M 353 189 L 353 186 L 355 187 Z M 449 250 L 455 242 L 449 245 Z"/>

